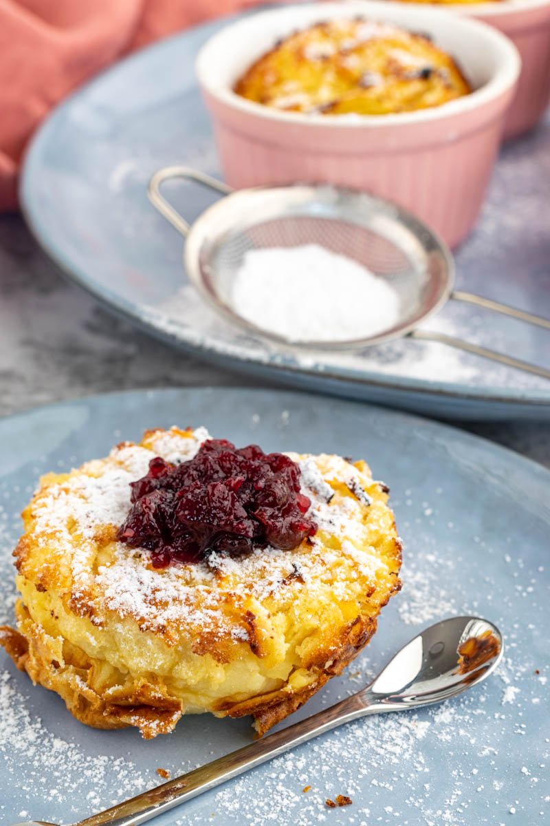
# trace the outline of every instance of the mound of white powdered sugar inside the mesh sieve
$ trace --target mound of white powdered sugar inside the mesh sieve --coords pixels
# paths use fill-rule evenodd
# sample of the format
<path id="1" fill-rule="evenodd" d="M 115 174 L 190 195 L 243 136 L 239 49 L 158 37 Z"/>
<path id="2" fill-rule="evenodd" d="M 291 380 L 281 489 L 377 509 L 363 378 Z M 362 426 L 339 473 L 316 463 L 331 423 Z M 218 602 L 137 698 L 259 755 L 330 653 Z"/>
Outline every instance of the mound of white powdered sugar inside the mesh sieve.
<path id="1" fill-rule="evenodd" d="M 388 282 L 319 244 L 249 250 L 231 301 L 243 318 L 295 342 L 367 338 L 400 317 Z"/>

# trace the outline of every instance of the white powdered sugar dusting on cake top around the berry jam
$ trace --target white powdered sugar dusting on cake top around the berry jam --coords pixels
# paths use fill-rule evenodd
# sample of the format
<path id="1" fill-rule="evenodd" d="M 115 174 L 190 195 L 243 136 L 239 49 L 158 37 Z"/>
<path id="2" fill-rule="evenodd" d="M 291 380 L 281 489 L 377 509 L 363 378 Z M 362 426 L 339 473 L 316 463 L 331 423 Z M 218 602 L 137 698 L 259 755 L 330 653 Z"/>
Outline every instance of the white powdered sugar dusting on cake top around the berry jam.
<path id="1" fill-rule="evenodd" d="M 186 434 L 175 429 L 149 433 L 145 446 L 120 444 L 106 459 L 87 463 L 82 472 L 49 485 L 38 496 L 39 541 L 49 547 L 54 534 L 57 552 L 70 560 L 73 598 L 93 607 L 92 621 L 100 623 L 106 612 L 115 612 L 123 619 L 137 619 L 142 630 L 158 631 L 172 624 L 180 632 L 187 629 L 197 633 L 200 629 L 216 638 L 240 640 L 246 638 L 246 629 L 238 617 L 229 619 L 220 610 L 227 592 L 237 605 L 248 598 L 264 601 L 270 597 L 276 601 L 280 593 L 286 600 L 289 587 L 305 586 L 313 600 L 317 593 L 327 590 L 327 566 L 336 562 L 343 572 L 335 583 L 339 598 L 358 596 L 357 573 L 368 582 L 376 582 L 383 563 L 366 541 L 368 534 L 362 522 L 370 498 L 356 468 L 339 457 L 325 455 L 303 460 L 303 493 L 312 501 L 309 515 L 319 529 L 338 540 L 334 548 L 313 539 L 299 560 L 295 554 L 268 546 L 239 558 L 212 554 L 200 563 L 157 569 L 148 564 L 147 552 L 113 538 L 109 558 L 94 572 L 96 536 L 106 526 L 115 528 L 124 522 L 130 507 L 130 482 L 147 471 L 154 456 L 179 463 L 192 458 L 208 438 L 204 428 Z M 340 496 L 335 501 L 331 482 L 343 484 L 353 491 L 353 497 Z M 80 536 L 78 544 L 74 543 L 75 530 Z M 290 586 L 289 577 L 294 577 Z"/>

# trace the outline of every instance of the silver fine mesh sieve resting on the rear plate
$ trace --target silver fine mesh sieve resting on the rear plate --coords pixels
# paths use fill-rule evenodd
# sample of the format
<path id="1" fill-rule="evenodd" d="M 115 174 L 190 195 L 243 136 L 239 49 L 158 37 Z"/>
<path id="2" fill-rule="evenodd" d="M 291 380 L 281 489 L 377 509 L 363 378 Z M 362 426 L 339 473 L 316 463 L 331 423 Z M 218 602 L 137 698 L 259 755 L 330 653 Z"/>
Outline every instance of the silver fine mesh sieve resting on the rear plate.
<path id="1" fill-rule="evenodd" d="M 182 178 L 222 194 L 189 225 L 166 198 L 162 183 Z M 381 198 L 327 184 L 293 184 L 234 191 L 209 175 L 183 166 L 159 169 L 148 196 L 167 221 L 186 237 L 185 264 L 190 282 L 226 319 L 254 335 L 310 349 L 355 349 L 408 335 L 467 350 L 485 358 L 550 378 L 550 370 L 417 326 L 449 298 L 483 306 L 550 330 L 550 320 L 454 287 L 454 262 L 444 242 L 411 213 Z M 400 317 L 386 330 L 355 339 L 294 342 L 263 329 L 239 314 L 233 285 L 251 249 L 319 244 L 346 255 L 383 278 L 397 292 Z"/>

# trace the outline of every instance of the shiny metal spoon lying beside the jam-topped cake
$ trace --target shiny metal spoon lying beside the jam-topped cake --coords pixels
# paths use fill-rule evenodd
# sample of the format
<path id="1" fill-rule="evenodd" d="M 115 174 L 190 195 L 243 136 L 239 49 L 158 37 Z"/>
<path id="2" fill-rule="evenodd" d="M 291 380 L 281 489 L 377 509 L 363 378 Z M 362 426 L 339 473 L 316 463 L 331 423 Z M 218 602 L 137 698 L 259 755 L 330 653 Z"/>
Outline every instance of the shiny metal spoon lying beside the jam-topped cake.
<path id="1" fill-rule="evenodd" d="M 501 632 L 487 619 L 444 619 L 411 639 L 357 694 L 74 826 L 138 826 L 338 725 L 367 714 L 440 703 L 489 676 L 501 661 L 503 648 Z M 34 820 L 15 826 L 54 824 Z"/>

